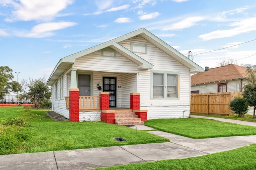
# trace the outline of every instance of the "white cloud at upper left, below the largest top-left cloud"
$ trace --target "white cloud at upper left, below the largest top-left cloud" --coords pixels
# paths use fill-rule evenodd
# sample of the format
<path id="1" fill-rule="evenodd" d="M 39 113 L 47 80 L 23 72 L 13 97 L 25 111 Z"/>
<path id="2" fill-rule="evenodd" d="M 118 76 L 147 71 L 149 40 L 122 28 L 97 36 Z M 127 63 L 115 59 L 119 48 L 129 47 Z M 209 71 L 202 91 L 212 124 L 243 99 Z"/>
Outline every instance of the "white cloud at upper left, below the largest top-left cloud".
<path id="1" fill-rule="evenodd" d="M 71 27 L 76 25 L 74 22 L 51 22 L 51 23 L 40 23 L 32 28 L 30 33 L 19 33 L 20 37 L 51 37 L 54 35 L 51 31 L 56 31 L 59 29 L 65 29 L 67 27 Z"/>

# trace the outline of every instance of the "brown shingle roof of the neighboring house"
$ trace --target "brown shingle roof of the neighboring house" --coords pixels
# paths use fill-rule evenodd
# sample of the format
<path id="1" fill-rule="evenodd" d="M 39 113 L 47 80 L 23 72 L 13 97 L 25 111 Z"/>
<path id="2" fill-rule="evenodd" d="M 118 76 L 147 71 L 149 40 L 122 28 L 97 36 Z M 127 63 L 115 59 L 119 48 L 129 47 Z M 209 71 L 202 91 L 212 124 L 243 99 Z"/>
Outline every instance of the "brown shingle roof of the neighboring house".
<path id="1" fill-rule="evenodd" d="M 246 77 L 245 67 L 236 64 L 210 68 L 208 71 L 199 72 L 191 76 L 191 85 L 231 80 Z"/>

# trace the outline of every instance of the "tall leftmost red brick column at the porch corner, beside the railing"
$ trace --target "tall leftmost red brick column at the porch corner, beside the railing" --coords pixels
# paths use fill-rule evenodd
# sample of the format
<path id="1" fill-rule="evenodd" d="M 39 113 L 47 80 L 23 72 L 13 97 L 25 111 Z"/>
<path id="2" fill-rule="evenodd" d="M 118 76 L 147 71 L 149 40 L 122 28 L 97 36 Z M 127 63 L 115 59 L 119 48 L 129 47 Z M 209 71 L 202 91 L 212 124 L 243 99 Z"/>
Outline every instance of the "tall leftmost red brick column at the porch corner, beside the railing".
<path id="1" fill-rule="evenodd" d="M 69 90 L 69 119 L 72 122 L 79 122 L 79 88 Z"/>

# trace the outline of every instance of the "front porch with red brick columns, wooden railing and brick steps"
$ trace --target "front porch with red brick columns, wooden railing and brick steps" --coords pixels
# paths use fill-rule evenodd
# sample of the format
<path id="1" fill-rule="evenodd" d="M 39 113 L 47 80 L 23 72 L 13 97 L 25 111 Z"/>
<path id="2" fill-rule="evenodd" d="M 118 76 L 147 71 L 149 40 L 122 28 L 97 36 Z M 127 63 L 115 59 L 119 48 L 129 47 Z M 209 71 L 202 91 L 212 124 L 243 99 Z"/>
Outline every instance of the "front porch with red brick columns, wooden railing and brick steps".
<path id="1" fill-rule="evenodd" d="M 100 120 L 118 125 L 143 125 L 147 121 L 147 110 L 140 110 L 140 93 L 130 93 L 130 108 L 110 107 L 109 92 L 100 96 L 79 96 L 79 89 L 70 89 L 65 97 L 70 121 L 81 121 L 80 112 L 100 111 Z"/>

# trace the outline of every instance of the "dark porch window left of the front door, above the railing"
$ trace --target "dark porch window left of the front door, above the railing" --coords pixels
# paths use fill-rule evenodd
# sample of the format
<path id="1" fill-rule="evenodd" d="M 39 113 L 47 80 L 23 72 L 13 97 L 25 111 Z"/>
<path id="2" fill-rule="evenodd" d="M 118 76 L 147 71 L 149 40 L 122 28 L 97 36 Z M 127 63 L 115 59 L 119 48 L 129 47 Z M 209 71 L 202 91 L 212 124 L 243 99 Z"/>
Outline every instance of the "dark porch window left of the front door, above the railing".
<path id="1" fill-rule="evenodd" d="M 91 75 L 78 74 L 79 96 L 91 96 Z"/>

